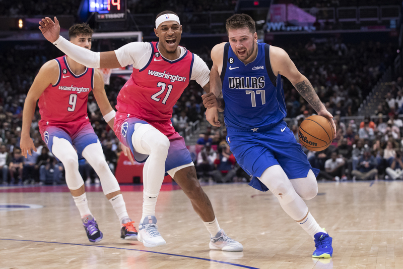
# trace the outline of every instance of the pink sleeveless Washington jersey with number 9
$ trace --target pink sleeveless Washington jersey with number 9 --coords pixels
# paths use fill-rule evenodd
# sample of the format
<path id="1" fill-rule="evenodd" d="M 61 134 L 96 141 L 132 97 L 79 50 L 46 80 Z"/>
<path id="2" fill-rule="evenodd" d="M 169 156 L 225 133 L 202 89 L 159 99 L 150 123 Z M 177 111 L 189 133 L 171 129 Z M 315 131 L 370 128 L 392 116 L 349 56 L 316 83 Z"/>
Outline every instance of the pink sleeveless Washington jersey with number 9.
<path id="1" fill-rule="evenodd" d="M 59 79 L 49 85 L 39 97 L 39 126 L 69 123 L 83 119 L 88 121 L 88 94 L 94 88 L 93 68 L 86 68 L 76 76 L 69 68 L 66 57 L 54 59 L 59 65 Z"/>

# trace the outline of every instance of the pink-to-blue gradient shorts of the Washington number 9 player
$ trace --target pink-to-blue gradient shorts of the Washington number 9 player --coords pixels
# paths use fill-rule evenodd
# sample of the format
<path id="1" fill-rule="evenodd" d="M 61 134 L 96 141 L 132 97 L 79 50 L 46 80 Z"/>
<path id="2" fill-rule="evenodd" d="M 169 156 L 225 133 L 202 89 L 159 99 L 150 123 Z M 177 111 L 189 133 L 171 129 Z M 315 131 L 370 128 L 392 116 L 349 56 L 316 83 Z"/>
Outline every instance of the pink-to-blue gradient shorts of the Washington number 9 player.
<path id="1" fill-rule="evenodd" d="M 90 122 L 82 123 L 82 126 L 80 126 L 78 130 L 71 135 L 68 134 L 68 131 L 69 130 L 64 130 L 62 124 L 44 127 L 41 135 L 50 152 L 52 152 L 53 137 L 64 138 L 69 141 L 76 148 L 79 159 L 83 158 L 81 153 L 83 152 L 84 148 L 90 144 L 98 142 L 98 136 L 95 134 Z"/>

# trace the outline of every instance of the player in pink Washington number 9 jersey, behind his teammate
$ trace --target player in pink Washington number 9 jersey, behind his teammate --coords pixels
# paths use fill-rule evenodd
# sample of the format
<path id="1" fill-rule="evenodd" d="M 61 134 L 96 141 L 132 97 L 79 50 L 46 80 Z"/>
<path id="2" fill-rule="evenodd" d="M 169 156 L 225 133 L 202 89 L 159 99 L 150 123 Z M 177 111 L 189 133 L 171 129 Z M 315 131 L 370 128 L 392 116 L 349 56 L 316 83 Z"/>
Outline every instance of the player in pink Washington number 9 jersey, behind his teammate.
<path id="1" fill-rule="evenodd" d="M 86 50 L 91 48 L 92 34 L 93 30 L 87 24 L 75 24 L 69 29 L 70 42 Z M 113 128 L 115 113 L 106 96 L 99 70 L 87 68 L 68 56 L 45 63 L 25 99 L 21 150 L 25 157 L 27 152 L 31 154 L 31 149 L 36 151 L 30 128 L 39 99 L 39 131 L 49 150 L 64 166 L 66 183 L 80 211 L 88 239 L 99 242 L 103 235 L 88 207 L 84 181 L 79 173 L 79 157 L 86 158 L 99 176 L 103 192 L 120 220 L 120 237 L 137 240 L 137 231 L 128 217 L 119 184 L 106 163 L 101 144 L 88 120 L 87 99 L 91 90 L 104 120 Z"/>

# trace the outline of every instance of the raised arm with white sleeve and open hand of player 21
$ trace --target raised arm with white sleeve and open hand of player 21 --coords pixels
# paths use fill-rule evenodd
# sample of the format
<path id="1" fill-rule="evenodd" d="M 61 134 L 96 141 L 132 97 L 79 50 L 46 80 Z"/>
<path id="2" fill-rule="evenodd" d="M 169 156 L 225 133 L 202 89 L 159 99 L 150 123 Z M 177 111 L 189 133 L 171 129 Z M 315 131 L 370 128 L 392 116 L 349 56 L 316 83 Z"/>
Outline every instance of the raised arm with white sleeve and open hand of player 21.
<path id="1" fill-rule="evenodd" d="M 39 30 L 41 30 L 43 36 L 74 61 L 90 68 L 121 67 L 115 51 L 94 52 L 63 38 L 60 35 L 60 25 L 56 17 L 54 17 L 54 22 L 49 17 L 46 17 L 39 22 L 39 25 Z"/>

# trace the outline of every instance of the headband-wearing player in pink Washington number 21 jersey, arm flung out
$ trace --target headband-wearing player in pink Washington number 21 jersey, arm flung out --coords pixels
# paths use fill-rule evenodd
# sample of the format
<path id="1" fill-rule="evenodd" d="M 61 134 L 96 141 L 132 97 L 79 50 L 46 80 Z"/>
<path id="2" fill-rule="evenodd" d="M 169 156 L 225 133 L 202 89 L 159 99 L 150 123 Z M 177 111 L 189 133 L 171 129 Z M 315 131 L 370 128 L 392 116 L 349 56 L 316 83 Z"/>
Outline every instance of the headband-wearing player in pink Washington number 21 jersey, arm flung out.
<path id="1" fill-rule="evenodd" d="M 209 68 L 197 55 L 179 46 L 182 26 L 178 16 L 165 11 L 156 18 L 159 42 L 132 42 L 108 52 L 82 49 L 59 35 L 54 18 L 42 19 L 39 29 L 75 61 L 92 68 L 133 66 L 130 79 L 117 97 L 114 131 L 129 147 L 143 170 L 143 215 L 139 240 L 147 247 L 164 245 L 158 232 L 155 205 L 164 174 L 167 172 L 189 197 L 194 210 L 210 233 L 210 249 L 242 251 L 243 246 L 220 228 L 213 207 L 200 187 L 190 153 L 183 137 L 175 132 L 170 119 L 172 107 L 189 80 L 194 79 L 210 91 Z"/>

